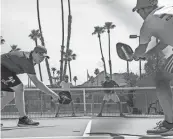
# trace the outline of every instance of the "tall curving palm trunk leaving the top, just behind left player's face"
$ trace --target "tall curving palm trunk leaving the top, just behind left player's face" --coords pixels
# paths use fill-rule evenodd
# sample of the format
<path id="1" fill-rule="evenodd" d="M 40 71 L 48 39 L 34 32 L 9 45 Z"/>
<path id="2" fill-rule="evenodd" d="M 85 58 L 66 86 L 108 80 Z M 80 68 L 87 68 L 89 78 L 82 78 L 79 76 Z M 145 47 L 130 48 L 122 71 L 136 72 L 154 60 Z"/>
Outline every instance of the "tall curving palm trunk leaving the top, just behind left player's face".
<path id="1" fill-rule="evenodd" d="M 44 43 L 44 37 L 43 37 L 43 33 L 42 33 L 42 29 L 41 29 L 41 22 L 40 22 L 40 12 L 39 12 L 39 0 L 37 0 L 37 17 L 38 17 L 38 25 L 39 25 L 39 30 L 40 30 L 40 40 L 41 40 L 41 44 L 42 46 L 45 47 L 45 43 Z M 49 77 L 49 81 L 50 81 L 50 85 L 52 85 L 52 78 L 51 78 L 51 73 L 50 73 L 50 67 L 49 67 L 49 62 L 48 59 L 45 59 L 46 62 L 46 67 L 47 67 L 47 72 L 48 72 L 48 77 Z"/>

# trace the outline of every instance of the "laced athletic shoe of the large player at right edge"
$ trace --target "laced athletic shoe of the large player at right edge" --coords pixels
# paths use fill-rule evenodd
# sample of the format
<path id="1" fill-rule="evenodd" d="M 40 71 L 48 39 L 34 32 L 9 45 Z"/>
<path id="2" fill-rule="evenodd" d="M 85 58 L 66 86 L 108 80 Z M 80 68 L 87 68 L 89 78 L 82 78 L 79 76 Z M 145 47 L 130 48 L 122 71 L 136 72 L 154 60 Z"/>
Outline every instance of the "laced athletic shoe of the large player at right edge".
<path id="1" fill-rule="evenodd" d="M 165 120 L 164 121 L 160 121 L 158 123 L 156 123 L 156 127 L 154 127 L 151 130 L 147 130 L 147 134 L 161 134 L 161 133 L 166 133 L 171 129 L 171 126 L 173 124 L 169 124 L 167 123 Z M 172 127 L 173 128 L 173 127 Z"/>

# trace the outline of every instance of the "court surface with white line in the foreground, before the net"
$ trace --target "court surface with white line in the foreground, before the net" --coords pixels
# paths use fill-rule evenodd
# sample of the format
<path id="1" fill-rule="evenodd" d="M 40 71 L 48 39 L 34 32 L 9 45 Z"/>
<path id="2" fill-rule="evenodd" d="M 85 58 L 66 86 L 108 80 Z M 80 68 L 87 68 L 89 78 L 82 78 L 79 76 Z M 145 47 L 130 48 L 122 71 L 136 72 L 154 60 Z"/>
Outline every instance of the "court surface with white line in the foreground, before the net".
<path id="1" fill-rule="evenodd" d="M 34 119 L 37 127 L 17 127 L 17 119 L 2 120 L 4 139 L 173 139 L 147 135 L 162 118 L 67 117 Z"/>

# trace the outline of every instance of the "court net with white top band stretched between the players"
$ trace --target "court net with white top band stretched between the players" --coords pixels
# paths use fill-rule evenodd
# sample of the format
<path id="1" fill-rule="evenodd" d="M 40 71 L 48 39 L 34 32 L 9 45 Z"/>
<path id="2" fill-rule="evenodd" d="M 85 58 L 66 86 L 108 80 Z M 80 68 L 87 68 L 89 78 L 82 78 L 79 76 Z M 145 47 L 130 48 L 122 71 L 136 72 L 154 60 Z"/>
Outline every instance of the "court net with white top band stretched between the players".
<path id="1" fill-rule="evenodd" d="M 51 89 L 56 93 L 62 91 L 60 88 Z M 76 116 L 97 116 L 105 96 L 105 90 L 116 92 L 121 107 L 112 100 L 106 102 L 102 111 L 103 117 L 119 116 L 120 111 L 129 117 L 163 116 L 163 111 L 156 97 L 155 87 L 72 88 L 71 95 Z M 6 94 L 3 93 L 3 95 Z M 25 110 L 30 117 L 55 117 L 57 107 L 58 104 L 51 101 L 51 96 L 40 90 L 36 88 L 27 88 L 25 90 Z M 62 105 L 59 116 L 68 117 L 71 115 L 71 104 Z M 1 111 L 1 118 L 18 118 L 18 116 L 19 113 L 14 100 Z"/>

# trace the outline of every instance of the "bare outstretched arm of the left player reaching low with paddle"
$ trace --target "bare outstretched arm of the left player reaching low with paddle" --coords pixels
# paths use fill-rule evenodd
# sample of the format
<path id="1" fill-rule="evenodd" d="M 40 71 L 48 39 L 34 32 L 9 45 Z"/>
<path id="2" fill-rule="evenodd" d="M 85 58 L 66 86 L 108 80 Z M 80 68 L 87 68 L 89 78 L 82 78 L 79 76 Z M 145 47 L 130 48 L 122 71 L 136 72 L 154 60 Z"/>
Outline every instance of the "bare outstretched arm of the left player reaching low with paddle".
<path id="1" fill-rule="evenodd" d="M 39 81 L 36 75 L 28 74 L 28 76 L 31 79 L 31 81 L 35 84 L 35 86 L 39 88 L 41 91 L 51 95 L 55 100 L 59 99 L 59 96 L 51 89 L 49 89 L 46 85 L 44 85 L 41 81 Z"/>

